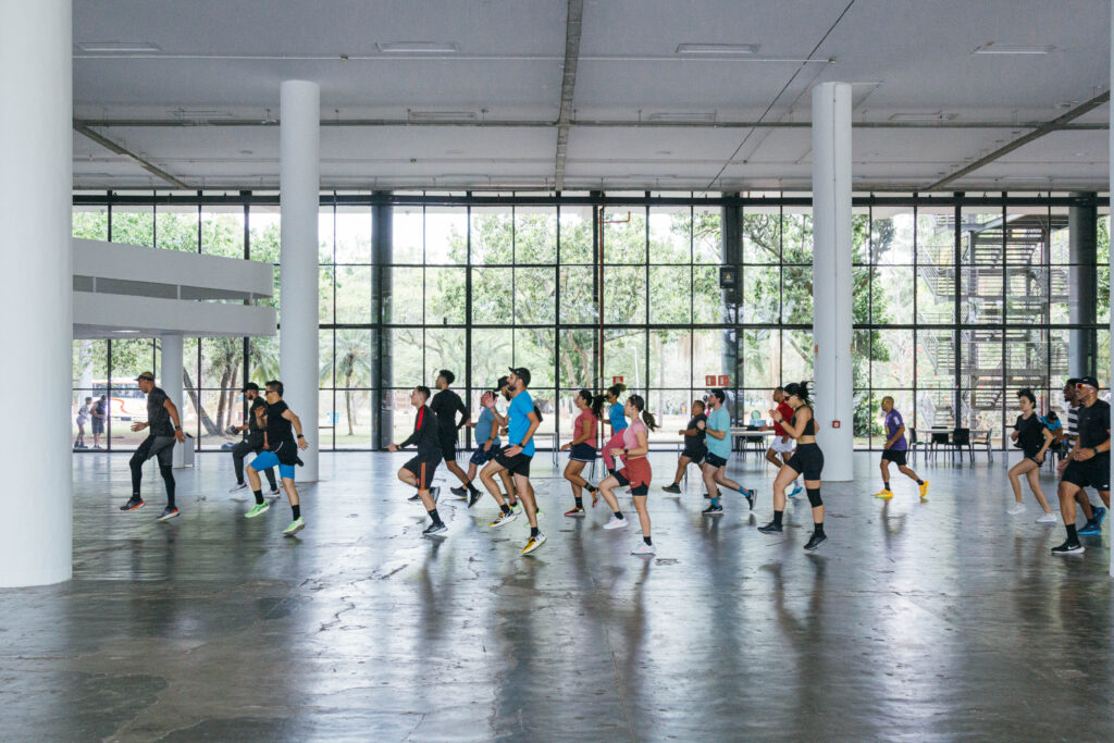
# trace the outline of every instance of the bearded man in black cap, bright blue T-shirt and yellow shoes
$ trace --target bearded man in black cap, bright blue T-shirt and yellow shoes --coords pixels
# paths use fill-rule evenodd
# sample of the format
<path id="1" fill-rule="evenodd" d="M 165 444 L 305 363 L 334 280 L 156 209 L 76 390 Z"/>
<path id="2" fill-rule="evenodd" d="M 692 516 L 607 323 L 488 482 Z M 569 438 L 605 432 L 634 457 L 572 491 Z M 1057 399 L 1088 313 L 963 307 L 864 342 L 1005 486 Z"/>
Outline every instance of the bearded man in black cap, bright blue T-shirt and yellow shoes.
<path id="1" fill-rule="evenodd" d="M 530 522 L 530 537 L 522 547 L 522 555 L 529 555 L 546 542 L 546 536 L 538 528 L 537 502 L 530 488 L 530 460 L 534 458 L 534 432 L 538 429 L 541 418 L 534 405 L 534 399 L 526 388 L 530 384 L 530 371 L 525 368 L 511 368 L 507 375 L 510 390 L 510 408 L 507 410 L 507 441 L 510 446 L 500 449 L 495 459 L 480 471 L 480 481 L 488 489 L 497 504 L 499 515 L 490 526 L 499 528 L 515 520 L 515 512 L 504 501 L 495 476 L 501 470 L 508 470 L 515 477 L 519 498 L 526 509 L 526 518 Z M 495 402 L 492 401 L 494 405 Z"/>

